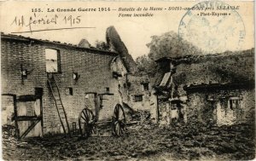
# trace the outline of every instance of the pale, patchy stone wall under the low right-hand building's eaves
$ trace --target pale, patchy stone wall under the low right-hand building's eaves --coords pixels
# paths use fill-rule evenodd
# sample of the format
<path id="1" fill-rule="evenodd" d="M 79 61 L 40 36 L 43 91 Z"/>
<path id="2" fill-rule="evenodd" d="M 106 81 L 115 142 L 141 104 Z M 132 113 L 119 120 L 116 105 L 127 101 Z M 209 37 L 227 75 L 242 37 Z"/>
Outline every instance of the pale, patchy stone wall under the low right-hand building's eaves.
<path id="1" fill-rule="evenodd" d="M 241 124 L 255 120 L 254 89 L 200 91 L 188 94 L 188 123 Z M 230 109 L 230 100 L 237 100 Z M 238 101 L 239 100 L 239 101 Z"/>

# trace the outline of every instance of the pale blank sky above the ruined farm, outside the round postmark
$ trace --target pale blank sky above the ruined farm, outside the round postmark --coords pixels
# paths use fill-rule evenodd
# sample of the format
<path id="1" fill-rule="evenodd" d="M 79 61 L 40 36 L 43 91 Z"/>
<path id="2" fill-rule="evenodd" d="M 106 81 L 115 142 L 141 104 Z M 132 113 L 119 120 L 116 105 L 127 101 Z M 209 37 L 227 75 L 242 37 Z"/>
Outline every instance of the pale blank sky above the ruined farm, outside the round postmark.
<path id="1" fill-rule="evenodd" d="M 178 32 L 178 26 L 183 15 L 186 14 L 185 10 L 178 11 L 144 11 L 141 13 L 152 13 L 153 17 L 140 17 L 140 18 L 124 18 L 119 17 L 119 13 L 129 14 L 129 12 L 119 12 L 119 8 L 138 8 L 138 7 L 159 7 L 168 9 L 169 6 L 183 6 L 192 7 L 196 3 L 2 3 L 1 9 L 1 32 L 26 32 L 29 31 L 29 26 L 18 26 L 15 24 L 16 20 L 21 20 L 23 15 L 24 21 L 27 25 L 30 16 L 34 16 L 32 9 L 42 9 L 43 12 L 36 13 L 37 18 L 33 17 L 33 20 L 40 18 L 54 18 L 58 16 L 57 24 L 51 23 L 48 25 L 32 25 L 32 30 L 44 30 L 51 28 L 65 28 L 65 27 L 96 27 L 87 29 L 73 29 L 73 30 L 59 30 L 59 31 L 44 31 L 44 32 L 28 32 L 18 33 L 24 37 L 34 37 L 40 39 L 48 39 L 51 41 L 60 41 L 61 43 L 73 43 L 78 44 L 82 38 L 87 39 L 91 44 L 94 44 L 96 40 L 106 41 L 106 29 L 108 26 L 114 26 L 119 32 L 119 36 L 125 43 L 127 49 L 133 58 L 137 58 L 139 55 L 148 54 L 147 43 L 151 41 L 151 36 L 160 35 L 165 32 Z M 253 47 L 253 3 L 231 3 L 230 5 L 240 5 L 238 11 L 241 15 L 242 23 L 245 26 L 246 36 L 242 49 L 250 49 Z M 54 12 L 49 13 L 47 9 L 87 9 L 87 8 L 101 8 L 110 7 L 110 12 Z M 71 24 L 69 20 L 65 23 L 65 16 L 72 15 L 72 18 L 80 16 L 80 22 L 78 24 Z M 47 18 L 46 18 L 47 16 Z M 14 23 L 13 23 L 14 22 Z M 17 22 L 17 21 L 16 21 Z M 13 23 L 13 24 L 12 24 Z M 12 25 L 11 25 L 12 24 Z M 194 31 L 195 32 L 195 31 Z M 211 35 L 212 34 L 212 35 Z M 216 32 L 211 32 L 208 37 L 218 37 Z M 221 33 L 218 33 L 221 34 Z M 203 38 L 201 38 L 202 41 Z M 193 43 L 196 44 L 197 38 L 193 38 Z M 204 41 L 204 40 L 203 40 Z M 230 41 L 230 40 L 229 40 Z M 200 42 L 198 44 L 201 44 Z M 228 46 L 228 45 L 227 45 Z M 232 45 L 227 48 L 233 48 Z M 227 50 L 227 49 L 223 49 Z M 232 49 L 230 49 L 232 50 Z"/>

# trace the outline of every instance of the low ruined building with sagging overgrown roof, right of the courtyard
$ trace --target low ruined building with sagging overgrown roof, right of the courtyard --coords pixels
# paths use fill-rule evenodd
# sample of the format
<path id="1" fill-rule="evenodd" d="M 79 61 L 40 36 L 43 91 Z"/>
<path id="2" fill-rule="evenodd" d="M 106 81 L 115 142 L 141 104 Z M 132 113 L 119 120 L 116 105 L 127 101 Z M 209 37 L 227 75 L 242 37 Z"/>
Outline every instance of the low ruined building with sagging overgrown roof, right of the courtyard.
<path id="1" fill-rule="evenodd" d="M 254 123 L 254 49 L 156 62 L 160 123 Z"/>

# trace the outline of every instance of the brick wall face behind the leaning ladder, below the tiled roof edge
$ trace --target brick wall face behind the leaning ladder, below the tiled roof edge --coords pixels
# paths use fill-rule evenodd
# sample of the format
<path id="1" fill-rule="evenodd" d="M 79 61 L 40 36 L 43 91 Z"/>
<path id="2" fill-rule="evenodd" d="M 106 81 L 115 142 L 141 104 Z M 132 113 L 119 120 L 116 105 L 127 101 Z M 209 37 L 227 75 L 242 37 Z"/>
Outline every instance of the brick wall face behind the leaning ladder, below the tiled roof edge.
<path id="1" fill-rule="evenodd" d="M 35 88 L 43 88 L 44 134 L 61 131 L 54 100 L 47 85 L 44 50 L 57 49 L 61 55 L 61 73 L 55 74 L 60 87 L 61 100 L 67 111 L 69 124 L 78 124 L 79 112 L 84 108 L 85 93 L 106 93 L 106 88 L 114 95 L 104 101 L 104 106 L 113 112 L 119 102 L 118 81 L 113 78 L 110 63 L 113 53 L 84 50 L 56 43 L 20 41 L 2 38 L 2 93 L 34 95 Z M 23 81 L 20 65 L 28 71 Z M 73 80 L 73 72 L 78 72 L 79 80 Z M 73 88 L 73 95 L 66 95 L 66 88 Z M 105 108 L 105 109 L 106 109 Z M 100 112 L 104 115 L 104 112 Z"/>

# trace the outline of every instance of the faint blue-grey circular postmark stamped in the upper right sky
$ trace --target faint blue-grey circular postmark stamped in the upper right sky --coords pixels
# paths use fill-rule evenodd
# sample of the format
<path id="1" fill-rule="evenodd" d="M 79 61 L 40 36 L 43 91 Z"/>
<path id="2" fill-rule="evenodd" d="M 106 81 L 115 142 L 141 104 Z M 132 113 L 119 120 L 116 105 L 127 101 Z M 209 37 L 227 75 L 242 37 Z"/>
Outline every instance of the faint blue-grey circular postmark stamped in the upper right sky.
<path id="1" fill-rule="evenodd" d="M 183 15 L 178 35 L 207 53 L 239 50 L 246 35 L 239 8 L 218 1 L 197 3 Z"/>

